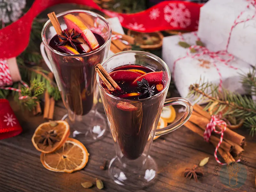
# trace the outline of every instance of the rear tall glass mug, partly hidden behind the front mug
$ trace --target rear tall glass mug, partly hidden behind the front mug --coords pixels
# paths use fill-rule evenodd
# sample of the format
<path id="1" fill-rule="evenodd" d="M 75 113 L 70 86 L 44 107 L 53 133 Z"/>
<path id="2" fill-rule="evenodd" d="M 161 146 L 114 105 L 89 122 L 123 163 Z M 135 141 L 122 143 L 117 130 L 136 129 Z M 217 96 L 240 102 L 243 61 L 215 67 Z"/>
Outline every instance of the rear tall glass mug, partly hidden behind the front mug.
<path id="1" fill-rule="evenodd" d="M 68 110 L 73 137 L 91 142 L 101 137 L 106 128 L 105 118 L 94 107 L 98 101 L 94 67 L 107 58 L 111 42 L 111 28 L 105 18 L 99 14 L 91 11 L 71 10 L 57 15 L 62 30 L 67 28 L 63 18 L 67 14 L 73 14 L 78 18 L 82 14 L 86 18 L 83 20 L 84 24 L 94 33 L 100 47 L 88 53 L 75 55 L 56 51 L 52 48 L 51 41 L 56 31 L 48 20 L 42 30 L 42 40 L 48 58 L 44 54 L 44 47 L 41 48 L 41 52 L 46 63 L 51 64 L 50 68 L 52 68 L 63 103 Z M 75 32 L 78 33 L 76 28 Z"/>

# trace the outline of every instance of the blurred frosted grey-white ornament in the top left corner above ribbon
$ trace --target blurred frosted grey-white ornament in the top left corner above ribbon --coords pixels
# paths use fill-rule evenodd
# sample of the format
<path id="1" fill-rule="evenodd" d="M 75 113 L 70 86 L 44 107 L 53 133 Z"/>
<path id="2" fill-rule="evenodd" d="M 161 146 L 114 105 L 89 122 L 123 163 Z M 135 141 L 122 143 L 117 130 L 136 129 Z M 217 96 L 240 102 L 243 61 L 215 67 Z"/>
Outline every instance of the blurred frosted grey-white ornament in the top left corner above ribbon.
<path id="1" fill-rule="evenodd" d="M 0 20 L 3 23 L 18 20 L 25 5 L 26 0 L 0 0 Z"/>

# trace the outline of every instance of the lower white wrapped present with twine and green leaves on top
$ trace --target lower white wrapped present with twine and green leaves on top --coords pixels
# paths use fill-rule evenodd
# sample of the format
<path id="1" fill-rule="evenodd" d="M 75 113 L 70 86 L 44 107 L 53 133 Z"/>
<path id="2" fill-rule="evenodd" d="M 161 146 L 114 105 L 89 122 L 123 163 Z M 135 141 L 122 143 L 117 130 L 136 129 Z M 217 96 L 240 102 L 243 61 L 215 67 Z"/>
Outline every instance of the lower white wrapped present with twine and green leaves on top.
<path id="1" fill-rule="evenodd" d="M 171 78 L 181 97 L 186 97 L 189 85 L 199 83 L 200 78 L 244 94 L 239 73 L 248 72 L 250 64 L 226 52 L 212 52 L 207 47 L 195 45 L 198 40 L 195 32 L 163 39 L 162 58 L 171 70 Z"/>

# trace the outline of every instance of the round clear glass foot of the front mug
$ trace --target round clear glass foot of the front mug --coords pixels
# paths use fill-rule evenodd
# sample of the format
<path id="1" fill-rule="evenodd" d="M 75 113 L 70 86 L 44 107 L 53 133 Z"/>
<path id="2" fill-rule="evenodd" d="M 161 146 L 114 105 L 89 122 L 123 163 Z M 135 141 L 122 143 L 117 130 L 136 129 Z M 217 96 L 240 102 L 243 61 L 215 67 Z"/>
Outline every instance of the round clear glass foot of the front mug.
<path id="1" fill-rule="evenodd" d="M 140 189 L 153 184 L 157 175 L 157 164 L 148 156 L 128 160 L 116 156 L 108 167 L 108 174 L 115 183 L 131 189 Z"/>

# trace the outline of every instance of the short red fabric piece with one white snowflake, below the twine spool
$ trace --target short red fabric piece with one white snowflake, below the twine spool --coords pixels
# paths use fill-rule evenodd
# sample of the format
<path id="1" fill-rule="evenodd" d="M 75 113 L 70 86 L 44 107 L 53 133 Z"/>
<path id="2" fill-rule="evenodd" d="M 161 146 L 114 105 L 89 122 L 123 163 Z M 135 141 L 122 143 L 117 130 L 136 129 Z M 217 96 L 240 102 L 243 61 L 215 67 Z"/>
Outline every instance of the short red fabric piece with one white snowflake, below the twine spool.
<path id="1" fill-rule="evenodd" d="M 20 123 L 6 99 L 0 99 L 0 140 L 14 137 L 22 132 Z"/>

